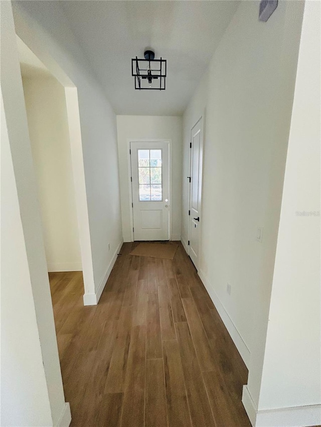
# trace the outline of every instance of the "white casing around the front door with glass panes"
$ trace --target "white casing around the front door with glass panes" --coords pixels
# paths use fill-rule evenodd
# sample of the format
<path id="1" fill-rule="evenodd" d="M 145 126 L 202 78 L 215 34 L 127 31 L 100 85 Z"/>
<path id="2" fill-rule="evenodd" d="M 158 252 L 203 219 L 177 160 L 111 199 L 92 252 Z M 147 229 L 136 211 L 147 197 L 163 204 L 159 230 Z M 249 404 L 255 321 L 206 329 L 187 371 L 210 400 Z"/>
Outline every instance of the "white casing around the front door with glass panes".
<path id="1" fill-rule="evenodd" d="M 132 187 L 131 187 L 131 159 L 130 159 L 130 143 L 131 142 L 150 142 L 150 143 L 156 143 L 156 142 L 168 142 L 169 143 L 169 224 L 170 224 L 170 240 L 172 240 L 172 140 L 170 138 L 127 138 L 127 173 L 128 173 L 128 190 L 129 190 L 129 220 L 130 220 L 130 241 L 134 241 L 134 232 L 133 232 L 133 226 L 134 226 L 134 217 L 133 217 L 133 208 L 132 208 Z"/>

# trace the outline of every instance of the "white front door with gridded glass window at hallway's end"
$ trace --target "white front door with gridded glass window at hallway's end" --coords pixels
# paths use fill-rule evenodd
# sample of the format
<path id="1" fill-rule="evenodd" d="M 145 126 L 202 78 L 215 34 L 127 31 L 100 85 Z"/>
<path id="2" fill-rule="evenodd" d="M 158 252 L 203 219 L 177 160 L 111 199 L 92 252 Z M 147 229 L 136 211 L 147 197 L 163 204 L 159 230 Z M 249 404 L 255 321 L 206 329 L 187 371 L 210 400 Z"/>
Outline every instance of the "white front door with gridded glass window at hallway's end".
<path id="1" fill-rule="evenodd" d="M 134 240 L 169 240 L 169 146 L 130 143 Z"/>

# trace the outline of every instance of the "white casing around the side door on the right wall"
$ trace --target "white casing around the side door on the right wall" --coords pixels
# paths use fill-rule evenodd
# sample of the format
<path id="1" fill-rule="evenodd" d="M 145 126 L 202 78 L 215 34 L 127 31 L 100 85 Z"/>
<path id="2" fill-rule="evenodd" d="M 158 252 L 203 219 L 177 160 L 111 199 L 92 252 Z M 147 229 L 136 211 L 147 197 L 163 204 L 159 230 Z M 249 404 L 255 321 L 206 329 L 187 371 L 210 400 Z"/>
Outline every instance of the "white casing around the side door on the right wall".
<path id="1" fill-rule="evenodd" d="M 203 179 L 204 179 L 204 140 L 205 140 L 205 110 L 203 112 L 203 114 L 201 115 L 201 117 L 194 123 L 194 125 L 191 127 L 190 130 L 190 141 L 189 144 L 192 143 L 192 130 L 193 128 L 195 128 L 195 126 L 203 119 L 202 122 L 202 140 L 201 140 L 201 144 L 202 144 L 202 173 L 201 173 L 201 207 L 200 207 L 200 222 L 199 222 L 199 244 L 198 244 L 198 263 L 197 265 L 195 265 L 195 268 L 197 270 L 200 269 L 200 259 L 201 259 L 201 243 L 202 243 L 202 220 L 203 220 Z M 190 146 L 189 148 L 189 176 L 192 177 L 192 148 Z M 192 201 L 192 179 L 191 182 L 189 183 L 189 211 L 191 211 L 191 201 Z M 189 225 L 188 225 L 188 242 L 191 240 L 191 227 L 192 227 L 192 221 L 190 218 L 190 215 L 188 215 L 188 221 L 189 221 Z M 187 244 L 187 254 L 190 256 L 190 245 Z"/>

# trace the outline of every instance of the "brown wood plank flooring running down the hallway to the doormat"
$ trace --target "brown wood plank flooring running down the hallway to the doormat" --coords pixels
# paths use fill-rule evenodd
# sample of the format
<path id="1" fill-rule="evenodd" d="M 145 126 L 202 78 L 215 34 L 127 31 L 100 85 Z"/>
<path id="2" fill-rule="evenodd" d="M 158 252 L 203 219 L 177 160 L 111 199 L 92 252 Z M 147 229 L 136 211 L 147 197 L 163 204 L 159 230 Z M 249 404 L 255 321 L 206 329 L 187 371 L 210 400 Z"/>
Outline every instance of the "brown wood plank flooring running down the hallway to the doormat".
<path id="1" fill-rule="evenodd" d="M 49 274 L 71 425 L 249 427 L 247 369 L 182 244 L 173 260 L 135 245 L 96 306 L 81 272 Z"/>

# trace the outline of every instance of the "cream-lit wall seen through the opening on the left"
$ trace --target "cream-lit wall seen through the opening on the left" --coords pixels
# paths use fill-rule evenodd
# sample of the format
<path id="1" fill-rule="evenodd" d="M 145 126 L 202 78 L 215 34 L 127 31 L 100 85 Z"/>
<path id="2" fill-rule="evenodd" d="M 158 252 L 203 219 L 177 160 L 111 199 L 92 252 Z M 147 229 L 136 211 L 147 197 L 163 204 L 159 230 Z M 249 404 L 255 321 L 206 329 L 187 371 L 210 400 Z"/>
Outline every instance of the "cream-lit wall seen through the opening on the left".
<path id="1" fill-rule="evenodd" d="M 81 270 L 64 87 L 53 77 L 23 76 L 48 271 Z"/>

